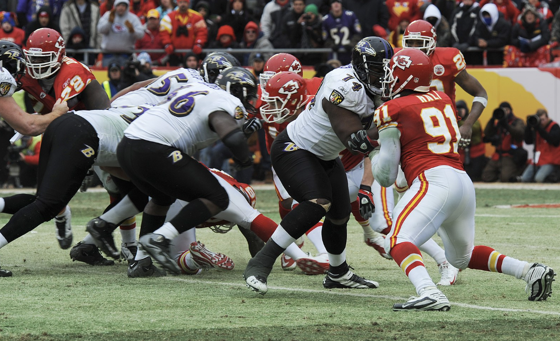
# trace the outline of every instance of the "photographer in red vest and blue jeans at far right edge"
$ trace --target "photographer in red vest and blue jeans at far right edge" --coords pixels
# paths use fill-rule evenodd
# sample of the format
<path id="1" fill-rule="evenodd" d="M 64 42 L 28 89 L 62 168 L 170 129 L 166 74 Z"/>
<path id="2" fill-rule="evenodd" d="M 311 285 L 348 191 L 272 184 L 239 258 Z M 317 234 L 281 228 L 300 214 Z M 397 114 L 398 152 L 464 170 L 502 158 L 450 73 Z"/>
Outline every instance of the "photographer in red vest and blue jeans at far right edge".
<path id="1" fill-rule="evenodd" d="M 535 115 L 527 116 L 524 140 L 533 144 L 533 159 L 521 175 L 521 181 L 547 182 L 547 177 L 560 169 L 560 126 L 548 117 L 546 110 L 539 109 Z"/>

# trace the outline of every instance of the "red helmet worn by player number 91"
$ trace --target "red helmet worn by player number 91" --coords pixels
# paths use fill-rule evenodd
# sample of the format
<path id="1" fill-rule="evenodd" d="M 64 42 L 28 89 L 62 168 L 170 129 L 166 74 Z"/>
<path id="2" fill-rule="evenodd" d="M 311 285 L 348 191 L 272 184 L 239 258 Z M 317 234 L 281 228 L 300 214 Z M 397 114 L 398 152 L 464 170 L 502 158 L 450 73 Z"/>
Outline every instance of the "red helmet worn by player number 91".
<path id="1" fill-rule="evenodd" d="M 385 66 L 382 96 L 393 98 L 404 89 L 428 92 L 432 77 L 432 62 L 427 54 L 419 49 L 402 49 Z"/>

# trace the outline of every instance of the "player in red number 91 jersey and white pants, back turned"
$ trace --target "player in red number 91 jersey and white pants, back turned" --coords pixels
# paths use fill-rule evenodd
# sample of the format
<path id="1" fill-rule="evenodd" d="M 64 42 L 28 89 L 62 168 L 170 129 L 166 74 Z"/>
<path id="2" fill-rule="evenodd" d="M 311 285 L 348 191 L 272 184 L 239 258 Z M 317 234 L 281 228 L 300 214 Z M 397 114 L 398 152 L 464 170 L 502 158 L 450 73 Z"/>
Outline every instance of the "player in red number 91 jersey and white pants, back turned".
<path id="1" fill-rule="evenodd" d="M 393 185 L 400 163 L 410 187 L 394 208 L 385 250 L 416 287 L 418 297 L 395 303 L 393 310 L 450 309 L 418 249 L 436 232 L 455 267 L 524 279 L 529 300 L 546 300 L 555 275 L 552 268 L 508 257 L 488 246 L 474 246 L 475 193 L 457 152 L 460 134 L 455 107 L 444 92 L 430 90 L 432 74 L 426 54 L 400 50 L 385 66 L 382 82 L 384 95 L 391 100 L 374 114 L 380 144 L 370 153 L 375 179 L 382 186 Z"/>

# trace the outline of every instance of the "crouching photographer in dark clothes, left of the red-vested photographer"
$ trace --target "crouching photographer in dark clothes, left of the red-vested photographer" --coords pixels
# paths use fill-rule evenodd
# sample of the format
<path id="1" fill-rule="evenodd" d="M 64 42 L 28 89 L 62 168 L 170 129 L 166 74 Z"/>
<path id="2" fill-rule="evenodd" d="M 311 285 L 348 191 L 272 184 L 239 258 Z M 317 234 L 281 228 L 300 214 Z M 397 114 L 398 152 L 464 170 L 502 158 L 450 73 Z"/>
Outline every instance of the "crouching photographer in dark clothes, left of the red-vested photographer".
<path id="1" fill-rule="evenodd" d="M 496 152 L 482 171 L 482 181 L 516 181 L 527 161 L 527 152 L 522 147 L 524 132 L 523 120 L 514 115 L 508 102 L 502 102 L 484 128 L 483 141 L 496 147 Z"/>

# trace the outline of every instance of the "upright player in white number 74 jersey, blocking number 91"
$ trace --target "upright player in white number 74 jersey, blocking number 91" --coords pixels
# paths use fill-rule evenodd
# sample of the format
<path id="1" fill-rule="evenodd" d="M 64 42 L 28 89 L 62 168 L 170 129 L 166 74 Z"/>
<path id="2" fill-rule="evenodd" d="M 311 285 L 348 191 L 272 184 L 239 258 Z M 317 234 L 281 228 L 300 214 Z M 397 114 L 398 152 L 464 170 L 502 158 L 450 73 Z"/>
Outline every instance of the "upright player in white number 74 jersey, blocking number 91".
<path id="1" fill-rule="evenodd" d="M 377 288 L 346 263 L 346 226 L 351 212 L 348 181 L 338 157 L 348 148 L 367 155 L 377 138 L 370 129 L 376 102 L 381 104 L 383 67 L 393 55 L 378 37 L 360 40 L 352 63 L 329 72 L 309 106 L 274 139 L 270 157 L 288 194 L 300 204 L 282 219 L 270 240 L 243 274 L 251 289 L 264 295 L 276 258 L 325 217 L 323 242 L 329 256 L 325 288 Z"/>

